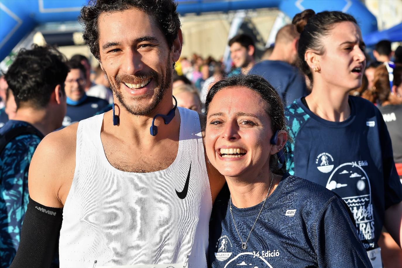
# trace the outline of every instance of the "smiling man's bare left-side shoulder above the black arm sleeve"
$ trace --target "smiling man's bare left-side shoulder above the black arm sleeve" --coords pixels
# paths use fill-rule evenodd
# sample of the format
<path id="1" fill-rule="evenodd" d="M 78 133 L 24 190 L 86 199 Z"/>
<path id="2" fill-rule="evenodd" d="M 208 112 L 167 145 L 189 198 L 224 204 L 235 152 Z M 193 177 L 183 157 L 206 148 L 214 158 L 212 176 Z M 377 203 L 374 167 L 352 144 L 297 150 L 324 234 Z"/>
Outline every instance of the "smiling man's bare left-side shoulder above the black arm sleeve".
<path id="1" fill-rule="evenodd" d="M 77 128 L 75 123 L 49 133 L 35 150 L 28 173 L 29 195 L 42 205 L 62 207 L 64 203 L 65 194 L 60 191 L 74 177 Z"/>

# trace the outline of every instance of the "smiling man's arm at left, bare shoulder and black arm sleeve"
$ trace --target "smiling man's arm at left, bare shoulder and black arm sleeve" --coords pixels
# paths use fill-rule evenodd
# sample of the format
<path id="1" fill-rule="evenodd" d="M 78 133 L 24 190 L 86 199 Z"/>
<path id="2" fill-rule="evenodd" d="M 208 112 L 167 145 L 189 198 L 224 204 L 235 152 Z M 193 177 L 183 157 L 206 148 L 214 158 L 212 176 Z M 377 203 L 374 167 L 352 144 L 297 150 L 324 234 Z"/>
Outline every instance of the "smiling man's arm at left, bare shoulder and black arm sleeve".
<path id="1" fill-rule="evenodd" d="M 51 265 L 62 227 L 62 207 L 74 176 L 77 125 L 47 135 L 33 155 L 28 174 L 29 204 L 10 268 Z"/>

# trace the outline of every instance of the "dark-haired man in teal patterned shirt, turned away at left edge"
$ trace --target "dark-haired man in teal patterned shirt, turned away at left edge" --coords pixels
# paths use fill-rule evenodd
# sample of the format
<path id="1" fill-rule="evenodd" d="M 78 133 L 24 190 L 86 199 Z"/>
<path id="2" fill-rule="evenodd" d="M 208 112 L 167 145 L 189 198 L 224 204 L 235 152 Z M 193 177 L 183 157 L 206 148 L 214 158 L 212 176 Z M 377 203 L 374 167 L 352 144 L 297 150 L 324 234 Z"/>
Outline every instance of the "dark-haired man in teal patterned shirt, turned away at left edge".
<path id="1" fill-rule="evenodd" d="M 20 243 L 28 205 L 28 169 L 45 135 L 66 114 L 65 57 L 54 48 L 22 49 L 6 73 L 15 117 L 0 129 L 0 267 L 9 267 Z M 49 256 L 52 260 L 53 254 Z"/>

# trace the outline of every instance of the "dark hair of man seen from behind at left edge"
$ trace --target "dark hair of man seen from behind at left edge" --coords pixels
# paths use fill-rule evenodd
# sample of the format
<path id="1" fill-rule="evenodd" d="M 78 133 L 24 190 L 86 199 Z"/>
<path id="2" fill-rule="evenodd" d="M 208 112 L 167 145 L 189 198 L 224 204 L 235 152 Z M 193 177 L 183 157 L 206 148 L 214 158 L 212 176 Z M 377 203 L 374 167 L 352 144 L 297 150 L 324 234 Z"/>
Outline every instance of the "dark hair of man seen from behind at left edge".
<path id="1" fill-rule="evenodd" d="M 66 61 L 55 47 L 33 45 L 32 49 L 21 49 L 5 74 L 17 108 L 21 105 L 45 108 L 57 85 L 64 92 L 64 81 L 70 71 Z"/>

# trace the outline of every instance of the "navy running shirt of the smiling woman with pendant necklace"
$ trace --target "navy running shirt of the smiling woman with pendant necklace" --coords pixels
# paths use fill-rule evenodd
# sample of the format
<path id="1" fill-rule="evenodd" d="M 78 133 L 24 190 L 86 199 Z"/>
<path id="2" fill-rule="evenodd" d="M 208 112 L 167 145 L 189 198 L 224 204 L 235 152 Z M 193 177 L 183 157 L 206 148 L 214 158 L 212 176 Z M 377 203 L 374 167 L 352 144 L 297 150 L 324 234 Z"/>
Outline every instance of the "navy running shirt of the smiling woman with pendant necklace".
<path id="1" fill-rule="evenodd" d="M 243 241 L 261 206 L 238 209 L 232 204 Z M 267 198 L 246 250 L 233 224 L 228 196 L 219 194 L 209 227 L 209 262 L 213 268 L 371 267 L 342 199 L 289 174 Z"/>

